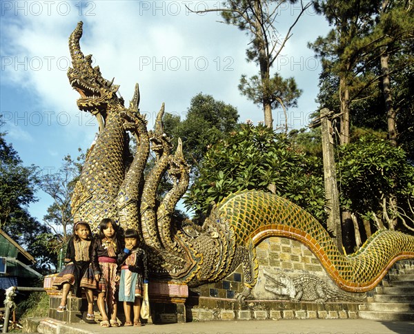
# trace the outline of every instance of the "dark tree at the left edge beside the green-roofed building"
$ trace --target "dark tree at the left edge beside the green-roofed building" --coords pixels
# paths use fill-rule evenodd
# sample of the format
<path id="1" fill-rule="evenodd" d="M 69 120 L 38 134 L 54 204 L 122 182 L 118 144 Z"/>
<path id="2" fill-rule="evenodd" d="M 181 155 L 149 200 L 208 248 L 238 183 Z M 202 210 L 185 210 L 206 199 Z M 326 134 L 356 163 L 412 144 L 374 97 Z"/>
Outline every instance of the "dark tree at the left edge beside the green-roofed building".
<path id="1" fill-rule="evenodd" d="M 1 125 L 3 122 L 1 121 Z M 28 206 L 37 201 L 39 168 L 23 165 L 19 154 L 6 142 L 6 133 L 0 133 L 0 228 L 10 238 L 29 249 L 37 259 L 35 269 L 45 273 L 54 258 L 45 252 L 42 240 L 50 230 L 30 216 Z"/>

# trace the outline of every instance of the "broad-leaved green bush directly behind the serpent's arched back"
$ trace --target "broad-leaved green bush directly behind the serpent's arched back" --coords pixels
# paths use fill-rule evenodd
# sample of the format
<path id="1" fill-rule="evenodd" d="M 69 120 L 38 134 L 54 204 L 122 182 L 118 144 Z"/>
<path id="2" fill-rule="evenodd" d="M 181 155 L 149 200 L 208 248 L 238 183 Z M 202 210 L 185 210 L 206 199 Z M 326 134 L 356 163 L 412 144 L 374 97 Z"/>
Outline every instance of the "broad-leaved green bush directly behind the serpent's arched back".
<path id="1" fill-rule="evenodd" d="M 210 202 L 243 189 L 267 191 L 292 200 L 324 221 L 324 187 L 320 160 L 294 149 L 284 134 L 259 125 L 242 125 L 213 145 L 203 160 L 200 176 L 184 202 L 201 216 Z"/>

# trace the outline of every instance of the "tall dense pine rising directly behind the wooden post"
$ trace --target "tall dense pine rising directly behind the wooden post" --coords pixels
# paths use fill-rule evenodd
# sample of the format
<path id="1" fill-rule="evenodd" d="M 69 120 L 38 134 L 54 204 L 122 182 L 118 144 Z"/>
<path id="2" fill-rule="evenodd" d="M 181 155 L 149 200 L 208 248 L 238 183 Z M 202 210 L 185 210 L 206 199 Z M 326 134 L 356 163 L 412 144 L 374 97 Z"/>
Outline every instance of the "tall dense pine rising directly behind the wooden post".
<path id="1" fill-rule="evenodd" d="M 339 140 L 343 145 L 350 141 L 350 105 L 372 83 L 368 74 L 361 75 L 366 70 L 361 61 L 366 48 L 371 45 L 362 39 L 373 27 L 375 3 L 371 0 L 319 0 L 314 1 L 314 6 L 333 25 L 327 36 L 319 36 L 309 46 L 322 61 L 319 79 L 322 87 L 328 89 L 325 96 L 319 94 L 319 102 L 321 107 L 339 109 Z M 323 97 L 328 101 L 334 98 L 335 105 L 329 105 Z"/>

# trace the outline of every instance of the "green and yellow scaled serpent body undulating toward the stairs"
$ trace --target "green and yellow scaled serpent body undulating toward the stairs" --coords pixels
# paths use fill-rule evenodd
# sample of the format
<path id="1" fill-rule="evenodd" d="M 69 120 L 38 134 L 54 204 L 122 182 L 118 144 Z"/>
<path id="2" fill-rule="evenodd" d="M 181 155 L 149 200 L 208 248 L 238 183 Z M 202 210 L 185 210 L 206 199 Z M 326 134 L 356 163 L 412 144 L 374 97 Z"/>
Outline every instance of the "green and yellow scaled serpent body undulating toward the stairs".
<path id="1" fill-rule="evenodd" d="M 237 244 L 257 245 L 270 236 L 284 236 L 310 248 L 342 289 L 373 289 L 397 260 L 414 258 L 414 237 L 380 230 L 356 253 L 342 255 L 324 227 L 311 214 L 282 197 L 263 191 L 228 196 L 219 211 L 230 221 Z"/>

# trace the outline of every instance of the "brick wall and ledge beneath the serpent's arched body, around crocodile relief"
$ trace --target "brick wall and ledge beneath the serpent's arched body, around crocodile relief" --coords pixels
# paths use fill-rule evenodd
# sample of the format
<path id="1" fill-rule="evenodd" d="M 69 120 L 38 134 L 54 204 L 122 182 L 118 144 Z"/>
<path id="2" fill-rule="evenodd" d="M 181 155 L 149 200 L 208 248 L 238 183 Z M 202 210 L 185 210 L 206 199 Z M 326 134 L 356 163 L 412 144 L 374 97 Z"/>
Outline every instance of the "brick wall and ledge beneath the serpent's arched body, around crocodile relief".
<path id="1" fill-rule="evenodd" d="M 357 317 L 357 305 L 360 302 L 333 299 L 295 301 L 288 295 L 275 295 L 264 289 L 266 285 L 264 272 L 270 275 L 284 273 L 292 278 L 312 275 L 333 291 L 351 297 L 365 297 L 364 294 L 341 291 L 315 255 L 301 242 L 270 237 L 257 245 L 256 255 L 259 262 L 259 277 L 248 300 L 243 303 L 235 300 L 237 292 L 244 288 L 240 266 L 220 282 L 190 289 L 190 297 L 186 302 L 187 320 Z"/>

